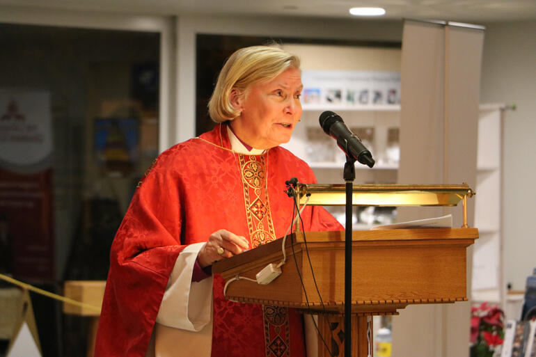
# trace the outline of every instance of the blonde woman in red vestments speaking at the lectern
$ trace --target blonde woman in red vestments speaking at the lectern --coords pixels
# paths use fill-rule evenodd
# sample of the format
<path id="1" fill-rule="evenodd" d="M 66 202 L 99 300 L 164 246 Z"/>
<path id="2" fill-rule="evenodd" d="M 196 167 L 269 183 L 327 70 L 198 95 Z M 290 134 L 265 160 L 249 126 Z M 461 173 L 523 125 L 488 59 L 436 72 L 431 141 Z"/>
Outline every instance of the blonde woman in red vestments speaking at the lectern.
<path id="1" fill-rule="evenodd" d="M 279 147 L 301 117 L 299 58 L 236 51 L 209 103 L 219 124 L 163 152 L 140 182 L 111 249 L 95 356 L 305 356 L 297 311 L 234 303 L 210 266 L 285 235 L 304 161 Z M 340 230 L 306 207 L 304 230 Z"/>

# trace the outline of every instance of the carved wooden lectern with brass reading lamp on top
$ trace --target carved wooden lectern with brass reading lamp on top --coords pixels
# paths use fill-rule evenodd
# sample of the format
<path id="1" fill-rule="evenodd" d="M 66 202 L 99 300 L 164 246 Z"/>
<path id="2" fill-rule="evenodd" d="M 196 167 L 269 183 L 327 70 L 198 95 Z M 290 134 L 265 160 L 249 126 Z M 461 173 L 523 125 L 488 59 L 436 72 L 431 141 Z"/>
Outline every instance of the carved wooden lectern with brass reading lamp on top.
<path id="1" fill-rule="evenodd" d="M 301 185 L 317 205 L 344 201 L 343 185 Z M 326 189 L 327 187 L 327 189 Z M 341 191 L 342 190 L 342 191 Z M 301 196 L 303 194 L 303 196 Z M 324 195 L 324 198 L 321 196 Z M 397 315 L 397 309 L 418 303 L 466 301 L 466 248 L 478 238 L 468 228 L 467 185 L 363 185 L 354 187 L 354 205 L 457 205 L 464 201 L 465 228 L 355 231 L 352 236 L 352 356 L 372 355 L 372 315 Z M 313 196 L 316 196 L 313 198 Z M 366 202 L 366 204 L 364 204 Z M 216 262 L 213 273 L 228 281 L 255 279 L 270 263 L 283 259 L 282 239 Z M 298 308 L 317 314 L 318 327 L 333 356 L 344 356 L 342 312 L 345 298 L 345 233 L 302 232 L 285 241 L 286 263 L 268 285 L 232 281 L 228 299 Z M 309 262 L 310 260 L 310 262 Z M 312 269 L 311 269 L 312 268 Z M 313 278 L 314 272 L 314 278 Z M 330 356 L 321 339 L 318 356 Z"/>

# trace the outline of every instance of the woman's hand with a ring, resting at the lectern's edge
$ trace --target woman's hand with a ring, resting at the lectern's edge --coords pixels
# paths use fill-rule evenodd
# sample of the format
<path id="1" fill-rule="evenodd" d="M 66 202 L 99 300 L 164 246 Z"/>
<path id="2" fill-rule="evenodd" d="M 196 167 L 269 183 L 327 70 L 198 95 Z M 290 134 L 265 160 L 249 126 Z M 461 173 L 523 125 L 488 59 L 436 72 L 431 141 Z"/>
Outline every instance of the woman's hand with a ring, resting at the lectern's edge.
<path id="1" fill-rule="evenodd" d="M 219 248 L 223 248 L 223 253 L 218 253 Z M 247 248 L 249 248 L 249 243 L 246 238 L 235 235 L 228 230 L 217 230 L 210 235 L 197 257 L 200 266 L 204 268 L 208 267 L 212 262 L 216 262 L 216 260 L 240 254 Z"/>

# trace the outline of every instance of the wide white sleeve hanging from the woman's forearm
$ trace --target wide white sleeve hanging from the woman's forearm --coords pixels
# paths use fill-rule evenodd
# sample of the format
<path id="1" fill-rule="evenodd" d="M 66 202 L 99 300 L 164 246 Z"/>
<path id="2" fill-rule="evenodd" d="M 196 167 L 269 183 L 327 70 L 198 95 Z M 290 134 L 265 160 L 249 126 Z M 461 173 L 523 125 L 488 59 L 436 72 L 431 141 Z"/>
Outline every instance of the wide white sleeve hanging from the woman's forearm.
<path id="1" fill-rule="evenodd" d="M 205 242 L 190 244 L 177 257 L 158 311 L 159 324 L 200 331 L 210 322 L 212 276 L 199 282 L 191 281 L 197 255 L 203 245 Z"/>

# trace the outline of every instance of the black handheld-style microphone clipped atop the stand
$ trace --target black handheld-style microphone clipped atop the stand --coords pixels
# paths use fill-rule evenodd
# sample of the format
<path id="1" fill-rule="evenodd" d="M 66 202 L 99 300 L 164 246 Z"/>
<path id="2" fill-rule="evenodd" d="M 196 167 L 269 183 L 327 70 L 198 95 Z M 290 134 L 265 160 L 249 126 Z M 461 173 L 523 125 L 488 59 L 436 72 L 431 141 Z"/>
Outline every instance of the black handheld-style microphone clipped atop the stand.
<path id="1" fill-rule="evenodd" d="M 348 129 L 340 116 L 333 113 L 333 111 L 324 111 L 324 113 L 320 114 L 319 121 L 324 132 L 337 141 L 339 148 L 348 157 L 352 157 L 368 167 L 374 166 L 375 161 L 372 159 L 370 151 L 361 143 L 360 138 L 350 132 L 350 129 Z"/>

